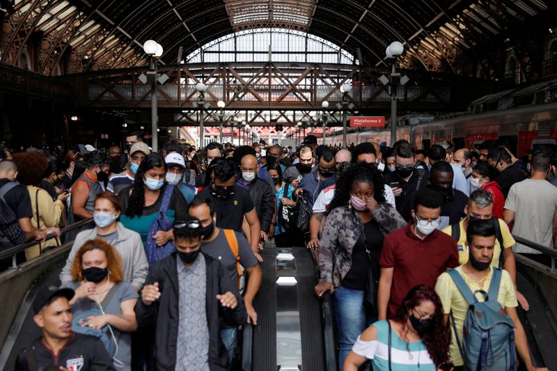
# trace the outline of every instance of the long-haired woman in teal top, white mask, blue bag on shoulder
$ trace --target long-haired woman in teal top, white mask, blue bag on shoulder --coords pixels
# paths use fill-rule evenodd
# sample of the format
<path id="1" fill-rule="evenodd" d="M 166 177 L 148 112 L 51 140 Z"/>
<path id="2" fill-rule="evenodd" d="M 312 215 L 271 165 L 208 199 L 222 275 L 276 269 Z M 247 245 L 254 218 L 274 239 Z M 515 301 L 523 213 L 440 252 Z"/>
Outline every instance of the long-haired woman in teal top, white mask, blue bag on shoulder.
<path id="1" fill-rule="evenodd" d="M 158 153 L 151 153 L 139 166 L 133 184 L 122 189 L 118 194 L 122 210 L 125 210 L 120 221 L 125 228 L 139 233 L 144 248 L 148 248 L 148 239 L 154 241 L 157 246 L 172 242 L 173 221 L 177 217 L 182 219 L 187 213 L 187 202 L 184 196 L 178 188 L 165 184 L 165 177 L 164 159 Z M 159 213 L 162 210 L 166 212 Z M 166 219 L 164 228 L 157 226 L 158 221 L 162 222 L 162 219 Z M 156 229 L 153 230 L 152 226 Z M 168 251 L 171 252 L 173 249 L 172 246 Z M 152 265 L 155 260 L 149 250 L 146 252 L 149 264 Z"/>

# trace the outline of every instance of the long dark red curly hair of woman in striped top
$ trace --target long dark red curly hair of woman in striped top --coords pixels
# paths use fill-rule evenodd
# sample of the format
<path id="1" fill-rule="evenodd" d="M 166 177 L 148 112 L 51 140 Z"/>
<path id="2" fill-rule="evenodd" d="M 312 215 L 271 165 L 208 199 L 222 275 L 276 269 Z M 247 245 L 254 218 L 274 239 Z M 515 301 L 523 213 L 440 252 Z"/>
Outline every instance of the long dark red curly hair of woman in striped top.
<path id="1" fill-rule="evenodd" d="M 435 306 L 435 313 L 432 316 L 433 325 L 430 331 L 424 334 L 422 342 L 427 348 L 432 361 L 439 367 L 443 363 L 449 361 L 448 346 L 450 345 L 450 330 L 443 322 L 443 305 L 437 292 L 427 285 L 418 285 L 412 287 L 408 292 L 405 299 L 402 300 L 402 305 L 398 308 L 397 313 L 393 317 L 396 322 L 406 324 L 408 321 L 408 313 L 419 306 L 423 301 L 431 301 Z M 405 331 L 402 336 L 408 332 L 405 326 Z"/>

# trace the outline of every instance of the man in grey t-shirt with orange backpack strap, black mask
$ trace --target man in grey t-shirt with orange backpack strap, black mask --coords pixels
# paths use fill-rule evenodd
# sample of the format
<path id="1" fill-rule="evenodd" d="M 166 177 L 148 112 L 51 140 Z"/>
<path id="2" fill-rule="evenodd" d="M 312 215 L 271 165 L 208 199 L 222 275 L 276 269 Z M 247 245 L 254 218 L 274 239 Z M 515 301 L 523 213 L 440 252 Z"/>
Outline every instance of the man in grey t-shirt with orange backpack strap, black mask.
<path id="1" fill-rule="evenodd" d="M 253 298 L 256 297 L 261 285 L 262 273 L 246 238 L 242 233 L 214 226 L 217 212 L 214 211 L 212 202 L 208 198 L 196 198 L 189 205 L 189 215 L 198 219 L 203 228 L 201 252 L 221 262 L 230 277 L 230 283 L 237 285 L 240 281 L 239 275 L 242 274 L 240 266 L 247 272 L 247 287 L 244 295 L 248 313 L 247 322 L 256 325 L 257 313 L 253 308 Z M 228 350 L 228 360 L 231 361 L 236 347 L 237 327 L 221 329 L 221 337 Z"/>

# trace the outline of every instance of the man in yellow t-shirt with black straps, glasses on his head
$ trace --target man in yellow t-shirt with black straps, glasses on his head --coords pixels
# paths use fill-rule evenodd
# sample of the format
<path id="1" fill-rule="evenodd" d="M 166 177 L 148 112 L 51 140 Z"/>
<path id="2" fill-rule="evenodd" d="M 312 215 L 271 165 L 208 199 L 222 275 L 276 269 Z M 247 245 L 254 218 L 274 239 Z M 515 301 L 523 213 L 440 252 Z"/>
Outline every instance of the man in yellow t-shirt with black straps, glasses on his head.
<path id="1" fill-rule="evenodd" d="M 515 253 L 512 252 L 512 246 L 516 241 L 512 238 L 510 230 L 503 221 L 493 216 L 493 198 L 492 194 L 485 189 L 474 191 L 468 199 L 468 204 L 464 207 L 466 218 L 458 223 L 454 223 L 442 230 L 449 236 L 455 237 L 458 247 L 458 261 L 460 265 L 466 264 L 469 259 L 469 251 L 466 249 L 466 229 L 471 221 L 474 220 L 491 220 L 496 230 L 496 239 L 493 251 L 492 267 L 505 269 L 512 278 L 512 283 L 517 292 L 517 299 L 524 310 L 528 310 L 528 301 L 517 291 L 517 267 L 515 261 Z M 499 226 L 496 226 L 497 223 Z M 501 243 L 503 246 L 501 247 Z M 503 250 L 501 252 L 501 250 Z M 501 256 L 501 253 L 503 256 Z M 499 266 L 499 263 L 502 263 Z"/>

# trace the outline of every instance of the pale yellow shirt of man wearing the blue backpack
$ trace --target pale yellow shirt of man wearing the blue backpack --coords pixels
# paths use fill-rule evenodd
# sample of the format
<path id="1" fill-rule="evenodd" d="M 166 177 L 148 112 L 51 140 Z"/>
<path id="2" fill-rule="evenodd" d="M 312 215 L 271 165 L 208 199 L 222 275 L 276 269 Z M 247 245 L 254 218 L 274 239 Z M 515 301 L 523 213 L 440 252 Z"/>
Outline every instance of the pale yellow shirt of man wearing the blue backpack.
<path id="1" fill-rule="evenodd" d="M 489 271 L 489 275 L 483 279 L 480 283 L 471 280 L 466 274 L 462 273 L 462 265 L 455 268 L 458 273 L 464 278 L 464 281 L 470 287 L 472 292 L 476 290 L 484 290 L 487 292 L 489 290 L 489 283 L 492 281 L 493 276 L 493 269 Z M 458 339 L 460 340 L 460 344 L 462 345 L 462 327 L 464 326 L 464 318 L 466 317 L 466 310 L 468 310 L 468 303 L 466 299 L 458 290 L 455 281 L 453 278 L 450 278 L 448 273 L 442 273 L 439 278 L 437 278 L 437 284 L 435 285 L 435 292 L 441 298 L 441 304 L 443 305 L 443 313 L 448 315 L 450 311 L 453 311 L 453 316 L 455 317 L 455 325 L 458 332 Z M 476 294 L 476 298 L 478 301 L 484 301 L 485 297 L 483 294 Z M 499 296 L 497 297 L 497 301 L 503 306 L 503 308 L 515 308 L 518 306 L 517 302 L 517 294 L 515 293 L 515 285 L 512 284 L 512 279 L 510 278 L 510 274 L 508 271 L 504 269 L 501 271 L 501 286 L 499 287 Z M 453 332 L 453 324 L 450 322 L 449 317 L 449 325 L 450 325 L 450 359 L 453 361 L 455 366 L 462 366 L 464 362 L 462 361 L 462 357 L 460 356 L 460 351 L 458 350 L 457 340 L 455 338 L 455 334 Z"/>

